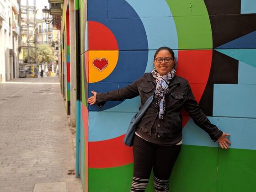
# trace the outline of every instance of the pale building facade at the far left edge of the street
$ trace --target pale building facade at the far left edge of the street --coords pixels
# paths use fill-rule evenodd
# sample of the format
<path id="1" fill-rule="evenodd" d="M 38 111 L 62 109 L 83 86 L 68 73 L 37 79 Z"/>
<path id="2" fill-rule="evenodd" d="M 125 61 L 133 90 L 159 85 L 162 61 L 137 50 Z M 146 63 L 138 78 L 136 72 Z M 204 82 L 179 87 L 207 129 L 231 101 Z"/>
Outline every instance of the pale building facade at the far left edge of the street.
<path id="1" fill-rule="evenodd" d="M 19 77 L 19 36 L 17 0 L 0 0 L 0 82 Z"/>

